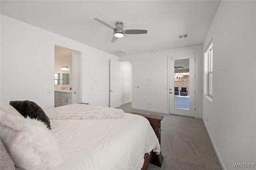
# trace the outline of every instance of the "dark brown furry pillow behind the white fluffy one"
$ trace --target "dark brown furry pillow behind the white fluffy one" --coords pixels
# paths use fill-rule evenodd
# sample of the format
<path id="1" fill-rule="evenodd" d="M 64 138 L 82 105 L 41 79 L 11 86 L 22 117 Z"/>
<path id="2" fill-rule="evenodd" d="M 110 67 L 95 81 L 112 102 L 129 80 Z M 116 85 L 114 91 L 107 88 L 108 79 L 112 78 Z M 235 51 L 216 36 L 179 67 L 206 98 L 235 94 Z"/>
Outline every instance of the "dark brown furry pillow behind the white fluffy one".
<path id="1" fill-rule="evenodd" d="M 50 119 L 44 113 L 43 109 L 32 101 L 10 101 L 10 105 L 14 107 L 25 118 L 38 119 L 45 123 L 51 129 Z"/>

